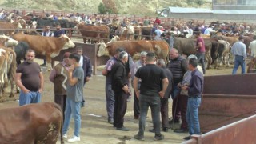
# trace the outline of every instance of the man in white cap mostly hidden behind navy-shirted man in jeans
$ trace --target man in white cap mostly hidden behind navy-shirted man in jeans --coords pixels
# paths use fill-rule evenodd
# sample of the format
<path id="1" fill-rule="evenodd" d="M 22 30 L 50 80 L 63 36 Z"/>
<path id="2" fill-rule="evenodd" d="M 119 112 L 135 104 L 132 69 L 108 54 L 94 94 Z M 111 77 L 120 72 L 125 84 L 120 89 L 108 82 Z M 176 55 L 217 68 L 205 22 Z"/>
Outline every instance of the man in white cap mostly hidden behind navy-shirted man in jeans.
<path id="1" fill-rule="evenodd" d="M 191 54 L 187 58 L 187 61 L 189 62 L 191 58 L 198 59 L 197 56 Z M 197 68 L 203 74 L 202 67 L 198 65 Z M 178 83 L 178 87 L 189 86 L 190 80 L 191 80 L 191 71 L 187 70 L 183 76 L 182 82 Z M 182 125 L 181 125 L 180 129 L 174 130 L 174 132 L 175 133 L 187 133 L 188 132 L 188 125 L 186 122 L 186 110 L 187 110 L 187 100 L 188 100 L 187 90 L 181 90 L 179 98 L 180 98 L 180 102 L 181 102 L 181 105 L 179 105 L 179 106 L 180 106 L 181 115 L 182 115 Z"/>

